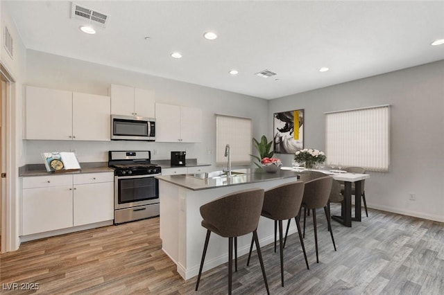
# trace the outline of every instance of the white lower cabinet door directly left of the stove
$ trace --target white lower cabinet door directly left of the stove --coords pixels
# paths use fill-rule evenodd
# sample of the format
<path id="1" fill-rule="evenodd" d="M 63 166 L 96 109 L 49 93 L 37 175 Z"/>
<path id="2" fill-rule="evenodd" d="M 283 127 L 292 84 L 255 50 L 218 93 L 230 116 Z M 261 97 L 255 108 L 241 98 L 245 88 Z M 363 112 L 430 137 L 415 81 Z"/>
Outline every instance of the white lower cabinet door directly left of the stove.
<path id="1" fill-rule="evenodd" d="M 114 219 L 114 182 L 74 186 L 74 226 Z"/>

